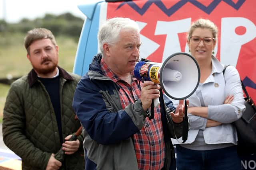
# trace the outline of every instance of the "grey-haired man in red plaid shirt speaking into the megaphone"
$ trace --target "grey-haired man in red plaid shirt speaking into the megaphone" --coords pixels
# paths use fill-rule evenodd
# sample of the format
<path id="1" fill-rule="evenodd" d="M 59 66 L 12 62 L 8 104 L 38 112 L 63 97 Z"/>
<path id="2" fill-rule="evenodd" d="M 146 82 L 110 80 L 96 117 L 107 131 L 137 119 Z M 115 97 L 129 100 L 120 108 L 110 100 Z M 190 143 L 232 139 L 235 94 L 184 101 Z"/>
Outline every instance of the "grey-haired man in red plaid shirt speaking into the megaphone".
<path id="1" fill-rule="evenodd" d="M 170 100 L 152 107 L 160 86 L 134 77 L 140 54 L 138 24 L 112 18 L 98 32 L 102 53 L 78 83 L 73 108 L 83 126 L 86 170 L 176 170 L 170 137 L 182 135 L 183 100 L 177 108 Z M 163 103 L 163 102 L 162 102 Z M 174 129 L 168 129 L 166 106 Z M 170 118 L 170 117 L 169 117 Z M 172 127 L 172 126 L 170 126 Z"/>

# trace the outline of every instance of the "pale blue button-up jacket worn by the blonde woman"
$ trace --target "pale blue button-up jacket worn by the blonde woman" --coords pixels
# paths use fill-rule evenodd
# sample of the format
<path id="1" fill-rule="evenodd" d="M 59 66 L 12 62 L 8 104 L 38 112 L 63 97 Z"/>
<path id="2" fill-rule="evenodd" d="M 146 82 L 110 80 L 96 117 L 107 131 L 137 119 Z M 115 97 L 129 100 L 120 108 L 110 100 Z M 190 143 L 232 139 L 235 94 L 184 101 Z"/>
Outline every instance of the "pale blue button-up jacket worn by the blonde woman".
<path id="1" fill-rule="evenodd" d="M 188 140 L 185 144 L 195 141 L 199 129 L 203 130 L 206 144 L 233 143 L 237 145 L 236 128 L 231 124 L 240 117 L 245 110 L 240 76 L 234 66 L 228 66 L 225 77 L 222 73 L 224 65 L 212 56 L 212 73 L 202 83 L 201 94 L 204 104 L 208 107 L 208 119 L 222 123 L 216 127 L 206 127 L 207 119 L 188 113 L 190 119 L 190 130 Z M 233 95 L 231 104 L 224 104 L 226 96 Z M 201 107 L 199 96 L 196 92 L 189 98 L 189 107 Z M 177 100 L 172 100 L 174 106 L 178 105 Z M 179 140 L 181 141 L 181 140 Z M 179 144 L 172 140 L 174 144 Z"/>

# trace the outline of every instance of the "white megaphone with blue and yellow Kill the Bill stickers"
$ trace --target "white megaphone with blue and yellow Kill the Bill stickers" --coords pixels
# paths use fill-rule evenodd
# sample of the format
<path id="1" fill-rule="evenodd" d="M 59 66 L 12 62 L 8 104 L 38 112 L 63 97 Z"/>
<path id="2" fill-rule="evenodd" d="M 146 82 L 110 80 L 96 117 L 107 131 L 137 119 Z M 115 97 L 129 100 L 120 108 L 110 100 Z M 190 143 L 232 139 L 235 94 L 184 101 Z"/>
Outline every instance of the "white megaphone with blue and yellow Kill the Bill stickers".
<path id="1" fill-rule="evenodd" d="M 154 63 L 142 59 L 136 63 L 134 76 L 140 81 L 152 81 L 160 84 L 167 96 L 175 100 L 185 99 L 185 116 L 183 118 L 183 143 L 188 139 L 188 114 L 186 98 L 197 89 L 200 82 L 199 65 L 188 53 L 174 53 L 164 63 Z M 154 106 L 159 106 L 159 99 L 154 99 Z M 152 112 L 154 113 L 154 112 Z M 150 115 L 150 118 L 153 118 Z M 167 116 L 169 121 L 170 117 Z"/>

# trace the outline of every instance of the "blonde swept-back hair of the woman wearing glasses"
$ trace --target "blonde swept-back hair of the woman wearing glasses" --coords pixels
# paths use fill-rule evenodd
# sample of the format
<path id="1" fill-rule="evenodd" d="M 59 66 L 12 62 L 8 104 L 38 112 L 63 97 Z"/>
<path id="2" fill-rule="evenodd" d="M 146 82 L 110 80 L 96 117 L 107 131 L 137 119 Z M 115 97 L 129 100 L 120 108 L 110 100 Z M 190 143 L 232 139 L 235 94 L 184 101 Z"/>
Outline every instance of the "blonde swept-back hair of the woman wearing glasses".
<path id="1" fill-rule="evenodd" d="M 189 41 L 191 38 L 192 33 L 194 32 L 194 30 L 196 28 L 207 28 L 210 29 L 212 31 L 212 37 L 215 39 L 217 39 L 217 34 L 218 34 L 218 27 L 210 20 L 206 20 L 206 19 L 198 19 L 196 20 L 194 23 L 192 23 L 192 25 L 190 26 L 190 29 L 188 31 L 188 38 L 187 40 Z"/>

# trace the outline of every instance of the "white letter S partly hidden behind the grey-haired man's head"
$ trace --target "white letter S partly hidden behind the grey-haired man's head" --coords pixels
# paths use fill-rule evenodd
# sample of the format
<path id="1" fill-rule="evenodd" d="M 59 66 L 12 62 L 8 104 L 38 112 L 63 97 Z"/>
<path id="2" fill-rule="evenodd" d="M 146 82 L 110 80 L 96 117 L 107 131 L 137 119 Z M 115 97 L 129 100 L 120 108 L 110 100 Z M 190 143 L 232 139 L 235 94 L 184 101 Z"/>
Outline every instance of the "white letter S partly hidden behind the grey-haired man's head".
<path id="1" fill-rule="evenodd" d="M 140 30 L 142 30 L 147 25 L 147 23 L 145 22 L 137 21 L 137 23 L 140 27 Z M 145 37 L 142 34 L 140 34 L 140 41 L 143 42 L 143 45 L 140 46 L 140 59 L 146 59 L 149 55 L 154 53 L 154 51 L 156 51 L 156 49 L 158 49 L 158 47 L 160 46 L 158 43 L 152 41 L 151 39 Z"/>

